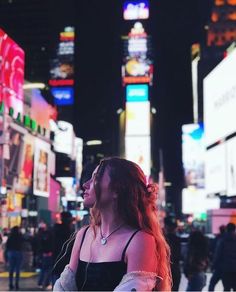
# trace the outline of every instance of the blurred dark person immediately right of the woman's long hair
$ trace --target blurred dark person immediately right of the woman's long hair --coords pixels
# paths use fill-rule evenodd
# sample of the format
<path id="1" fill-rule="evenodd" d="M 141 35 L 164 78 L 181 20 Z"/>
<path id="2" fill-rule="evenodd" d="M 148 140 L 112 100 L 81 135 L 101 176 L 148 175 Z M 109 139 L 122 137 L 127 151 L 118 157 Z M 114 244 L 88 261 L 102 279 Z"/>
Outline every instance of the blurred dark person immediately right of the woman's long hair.
<path id="1" fill-rule="evenodd" d="M 165 237 L 170 246 L 170 262 L 171 262 L 171 275 L 172 275 L 172 291 L 178 291 L 181 270 L 180 270 L 180 259 L 181 259 L 181 242 L 180 238 L 176 235 L 177 223 L 175 218 L 167 216 L 164 219 L 165 224 Z"/>

